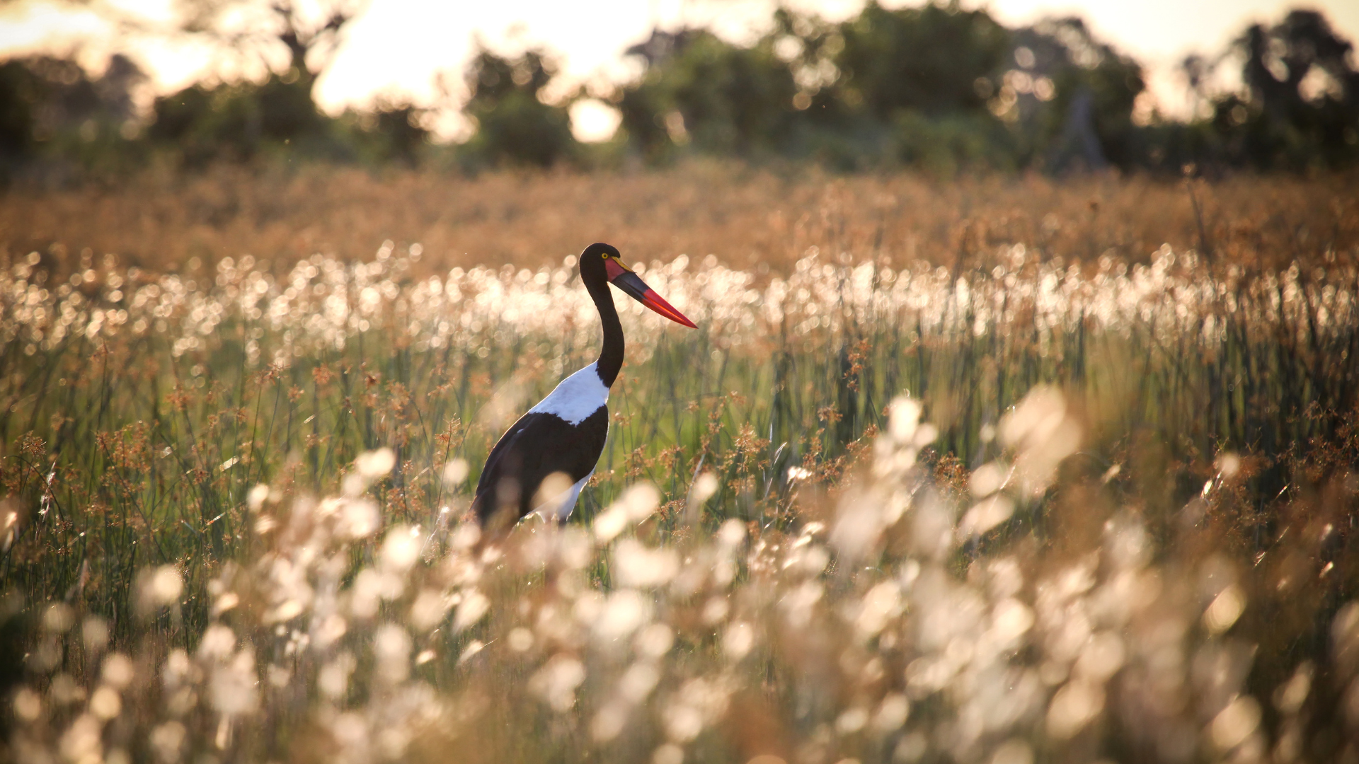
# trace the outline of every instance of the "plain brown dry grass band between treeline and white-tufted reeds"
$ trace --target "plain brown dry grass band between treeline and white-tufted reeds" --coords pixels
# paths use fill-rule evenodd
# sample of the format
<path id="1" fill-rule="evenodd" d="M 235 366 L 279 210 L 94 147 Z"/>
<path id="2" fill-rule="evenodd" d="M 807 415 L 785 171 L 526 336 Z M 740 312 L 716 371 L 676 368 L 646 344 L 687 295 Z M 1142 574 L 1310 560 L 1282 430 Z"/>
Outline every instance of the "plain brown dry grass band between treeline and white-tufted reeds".
<path id="1" fill-rule="evenodd" d="M 552 175 L 303 167 L 148 173 L 118 188 L 11 189 L 0 247 L 11 256 L 116 253 L 149 271 L 253 254 L 285 272 L 321 251 L 367 260 L 391 239 L 424 245 L 428 272 L 477 264 L 537 268 L 593 241 L 636 260 L 704 257 L 787 272 L 809 246 L 875 257 L 988 264 L 1025 243 L 1042 257 L 1146 262 L 1162 243 L 1269 266 L 1359 243 L 1359 179 L 1234 177 L 1184 182 L 1041 175 L 935 182 L 693 164 L 663 173 Z M 1201 226 L 1200 226 L 1201 222 Z M 63 256 L 61 253 L 68 253 Z"/>

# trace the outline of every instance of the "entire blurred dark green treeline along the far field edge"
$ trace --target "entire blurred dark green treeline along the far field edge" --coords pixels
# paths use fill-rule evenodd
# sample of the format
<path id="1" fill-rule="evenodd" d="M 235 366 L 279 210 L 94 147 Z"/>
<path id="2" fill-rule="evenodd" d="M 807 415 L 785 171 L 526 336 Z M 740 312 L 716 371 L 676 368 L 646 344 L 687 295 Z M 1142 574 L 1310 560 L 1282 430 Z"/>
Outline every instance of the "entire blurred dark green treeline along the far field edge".
<path id="1" fill-rule="evenodd" d="M 633 82 L 594 95 L 621 114 L 613 140 L 580 144 L 556 101 L 541 49 L 478 46 L 457 107 L 474 124 L 461 144 L 431 141 L 436 109 L 379 102 L 340 117 L 313 98 L 310 44 L 351 16 L 303 33 L 288 5 L 275 42 L 291 65 L 262 82 L 198 83 L 135 106 L 144 73 L 114 56 L 99 76 L 69 60 L 0 64 L 0 173 L 86 177 L 151 163 L 202 167 L 270 158 L 477 169 L 503 164 L 665 164 L 685 156 L 817 162 L 836 170 L 916 167 L 1064 173 L 1118 167 L 1178 173 L 1309 171 L 1359 159 L 1359 71 L 1352 45 L 1316 11 L 1253 24 L 1215 58 L 1182 63 L 1186 121 L 1136 109 L 1143 67 L 1078 18 L 1007 27 L 957 4 L 875 3 L 830 23 L 775 12 L 753 45 L 705 29 L 655 31 L 628 54 Z M 311 64 L 308 64 L 311 61 Z M 1215 87 L 1239 68 L 1237 90 Z M 561 88 L 556 88 L 560 91 Z"/>

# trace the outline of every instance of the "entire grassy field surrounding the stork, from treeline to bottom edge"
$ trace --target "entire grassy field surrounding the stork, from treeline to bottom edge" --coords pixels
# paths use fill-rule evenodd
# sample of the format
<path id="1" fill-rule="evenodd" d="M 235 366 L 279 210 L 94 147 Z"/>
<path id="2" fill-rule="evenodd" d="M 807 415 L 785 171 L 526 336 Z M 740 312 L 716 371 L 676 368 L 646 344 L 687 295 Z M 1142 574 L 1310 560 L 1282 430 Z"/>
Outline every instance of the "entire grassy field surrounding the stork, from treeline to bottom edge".
<path id="1" fill-rule="evenodd" d="M 323 181 L 0 205 L 8 757 L 1359 760 L 1349 178 Z M 488 546 L 597 238 L 699 330 Z"/>

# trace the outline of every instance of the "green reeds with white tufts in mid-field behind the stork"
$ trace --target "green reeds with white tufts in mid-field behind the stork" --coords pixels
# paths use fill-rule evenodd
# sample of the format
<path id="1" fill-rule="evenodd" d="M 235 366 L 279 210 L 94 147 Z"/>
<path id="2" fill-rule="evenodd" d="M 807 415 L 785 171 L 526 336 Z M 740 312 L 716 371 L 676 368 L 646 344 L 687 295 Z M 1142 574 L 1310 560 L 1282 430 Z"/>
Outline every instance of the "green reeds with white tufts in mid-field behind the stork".
<path id="1" fill-rule="evenodd" d="M 314 257 L 277 281 L 249 258 L 224 261 L 211 283 L 109 264 L 46 284 L 10 264 L 0 480 L 19 519 L 5 589 L 87 601 L 128 628 L 137 570 L 177 563 L 197 591 L 253 544 L 255 485 L 333 492 L 381 446 L 397 455 L 378 489 L 385 523 L 459 514 L 467 485 L 447 487 L 444 465 L 465 459 L 474 481 L 512 417 L 591 360 L 597 328 L 569 261 L 434 284 L 406 275 L 417 257 Z M 1036 262 L 1022 247 L 1007 257 L 995 271 L 890 272 L 810 251 L 758 284 L 686 258 L 652 264 L 644 276 L 700 329 L 625 310 L 629 362 L 576 518 L 650 480 L 660 526 L 689 533 L 680 506 L 712 472 L 703 527 L 788 527 L 799 481 L 836 484 L 901 392 L 939 426 L 931 458 L 947 479 L 950 459 L 995 455 L 1015 401 L 1057 385 L 1089 431 L 1067 469 L 1140 465 L 1129 491 L 1154 515 L 1178 511 L 1220 453 L 1261 457 L 1252 487 L 1273 499 L 1299 488 L 1298 465 L 1354 438 L 1352 266 L 1249 273 L 1167 250 L 1132 271 Z M 1268 525 L 1242 522 L 1257 538 Z"/>

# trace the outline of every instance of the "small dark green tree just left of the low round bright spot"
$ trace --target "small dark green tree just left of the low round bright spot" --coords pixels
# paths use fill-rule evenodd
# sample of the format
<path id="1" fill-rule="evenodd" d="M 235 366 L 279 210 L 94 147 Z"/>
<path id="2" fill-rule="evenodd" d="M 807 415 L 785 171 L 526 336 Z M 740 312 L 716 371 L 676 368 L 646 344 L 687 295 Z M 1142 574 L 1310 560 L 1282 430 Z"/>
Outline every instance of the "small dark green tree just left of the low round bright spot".
<path id="1" fill-rule="evenodd" d="M 556 64 L 542 50 L 516 58 L 497 56 L 480 42 L 466 69 L 472 97 L 463 107 L 477 131 L 462 147 L 473 164 L 534 164 L 548 167 L 576 150 L 568 103 L 546 103 L 542 90 Z"/>

